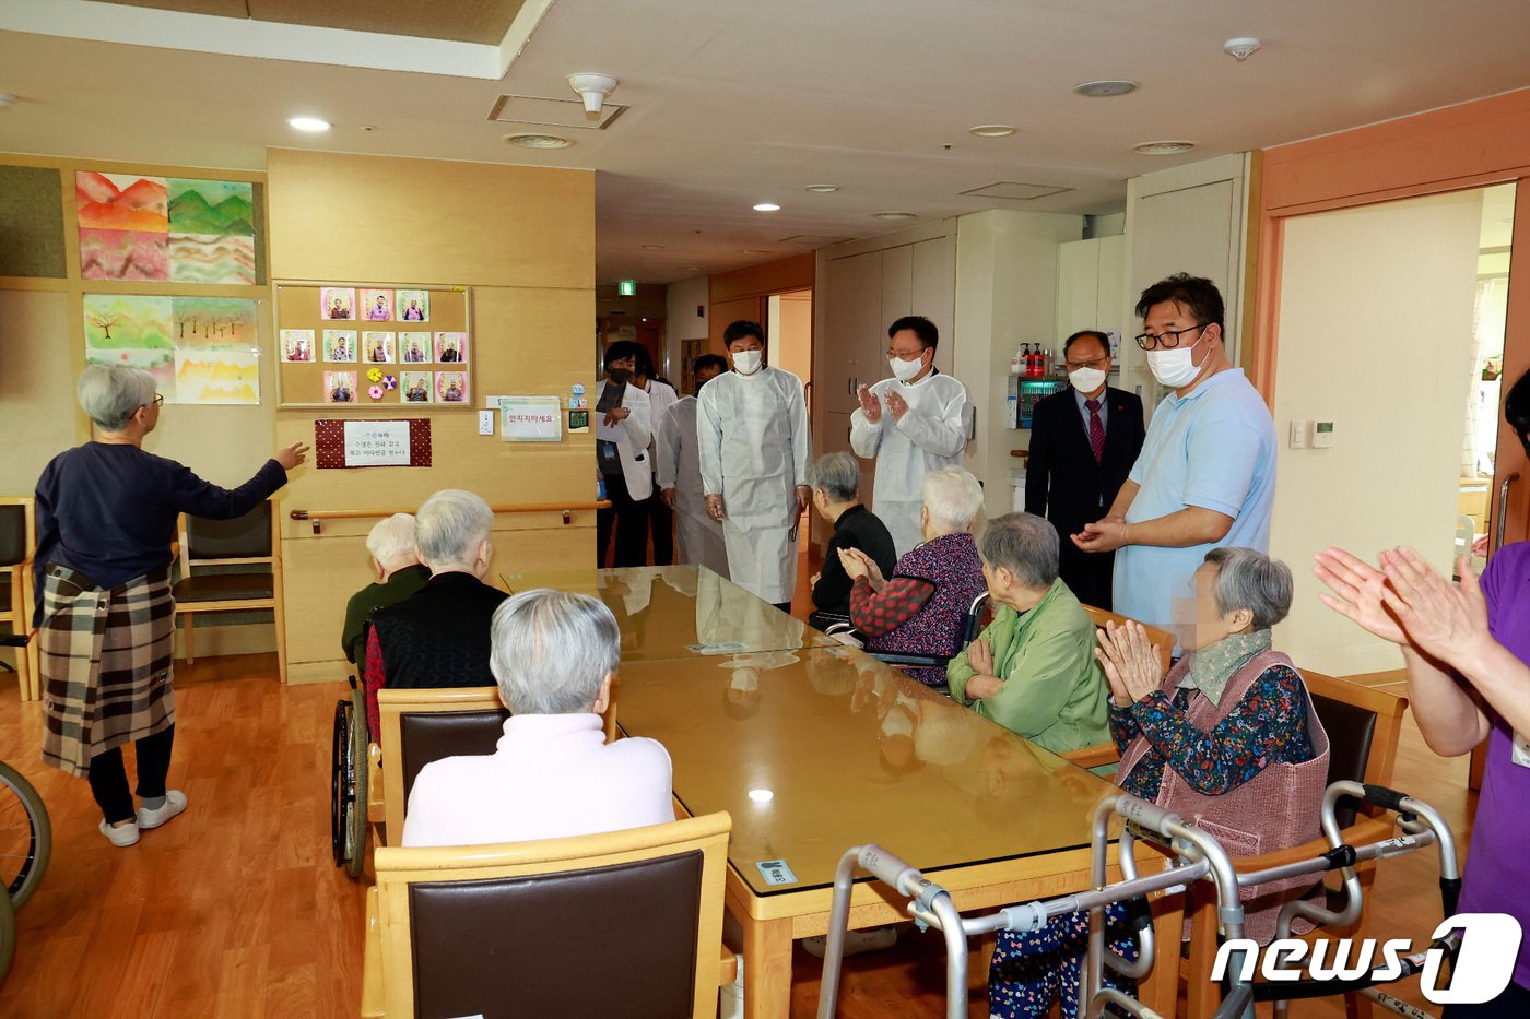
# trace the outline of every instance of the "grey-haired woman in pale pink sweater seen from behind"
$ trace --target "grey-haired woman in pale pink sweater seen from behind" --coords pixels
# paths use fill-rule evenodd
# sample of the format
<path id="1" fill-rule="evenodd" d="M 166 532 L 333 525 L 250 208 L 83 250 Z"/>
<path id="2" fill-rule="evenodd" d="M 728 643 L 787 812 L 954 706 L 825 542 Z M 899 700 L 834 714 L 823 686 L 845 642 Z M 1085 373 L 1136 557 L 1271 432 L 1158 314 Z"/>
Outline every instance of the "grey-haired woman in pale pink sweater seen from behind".
<path id="1" fill-rule="evenodd" d="M 675 820 L 670 759 L 652 739 L 604 741 L 621 635 L 600 600 L 563 591 L 506 598 L 490 669 L 509 708 L 493 754 L 421 768 L 405 846 L 589 835 Z"/>

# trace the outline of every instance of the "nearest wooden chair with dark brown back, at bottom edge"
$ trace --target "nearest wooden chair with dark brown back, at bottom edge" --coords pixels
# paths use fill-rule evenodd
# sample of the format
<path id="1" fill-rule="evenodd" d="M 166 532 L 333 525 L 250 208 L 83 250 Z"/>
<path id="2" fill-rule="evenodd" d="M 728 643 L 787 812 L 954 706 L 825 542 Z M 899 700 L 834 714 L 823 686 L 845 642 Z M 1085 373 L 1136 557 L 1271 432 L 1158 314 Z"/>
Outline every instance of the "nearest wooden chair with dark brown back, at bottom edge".
<path id="1" fill-rule="evenodd" d="M 731 826 L 378 849 L 361 1014 L 710 1019 Z"/>

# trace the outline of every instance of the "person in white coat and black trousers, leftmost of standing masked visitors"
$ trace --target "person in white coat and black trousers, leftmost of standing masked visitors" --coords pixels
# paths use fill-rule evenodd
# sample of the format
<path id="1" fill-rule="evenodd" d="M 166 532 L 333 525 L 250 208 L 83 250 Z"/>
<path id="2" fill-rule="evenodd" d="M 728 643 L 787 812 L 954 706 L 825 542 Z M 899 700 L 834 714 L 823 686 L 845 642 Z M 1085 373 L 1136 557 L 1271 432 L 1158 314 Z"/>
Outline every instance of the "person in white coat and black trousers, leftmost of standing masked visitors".
<path id="1" fill-rule="evenodd" d="M 653 473 L 649 442 L 653 419 L 649 395 L 630 384 L 638 344 L 618 340 L 606 349 L 606 378 L 595 390 L 595 470 L 606 482 L 609 510 L 595 513 L 595 565 L 606 565 L 606 545 L 617 532 L 617 566 L 641 566 L 649 555 L 649 503 Z M 621 386 L 621 404 L 600 410 L 607 386 Z"/>

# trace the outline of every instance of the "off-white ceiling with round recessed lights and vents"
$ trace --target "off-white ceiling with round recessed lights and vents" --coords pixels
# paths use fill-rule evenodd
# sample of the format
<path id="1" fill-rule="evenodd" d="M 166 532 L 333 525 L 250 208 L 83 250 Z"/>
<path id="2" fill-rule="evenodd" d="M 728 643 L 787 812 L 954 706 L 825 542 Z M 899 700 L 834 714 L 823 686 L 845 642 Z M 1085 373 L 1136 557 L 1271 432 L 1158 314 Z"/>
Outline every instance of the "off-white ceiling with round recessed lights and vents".
<path id="1" fill-rule="evenodd" d="M 597 278 L 666 283 L 822 243 L 785 242 L 797 234 L 907 225 L 872 219 L 884 210 L 1118 211 L 1140 173 L 1530 86 L 1525 0 L 545 0 L 523 17 L 529 41 L 516 57 L 508 37 L 499 50 L 405 49 L 355 31 L 0 0 L 0 92 L 21 99 L 0 110 L 0 150 L 262 168 L 268 147 L 304 147 L 589 168 Z M 1221 50 L 1235 35 L 1264 49 L 1238 63 Z M 379 58 L 390 47 L 399 58 Z M 441 73 L 338 66 L 369 63 Z M 482 73 L 503 63 L 503 81 Z M 503 135 L 537 129 L 491 122 L 494 101 L 574 98 L 575 70 L 620 78 L 612 101 L 630 109 L 601 132 L 562 130 L 572 148 L 506 145 Z M 1071 95 L 1092 78 L 1141 89 Z M 285 122 L 297 113 L 335 130 L 298 135 Z M 988 122 L 1019 132 L 967 133 Z M 1167 138 L 1198 148 L 1131 151 Z M 961 194 L 1001 181 L 1071 190 L 1031 202 Z M 809 184 L 842 190 L 809 194 Z M 750 210 L 762 200 L 783 208 Z"/>

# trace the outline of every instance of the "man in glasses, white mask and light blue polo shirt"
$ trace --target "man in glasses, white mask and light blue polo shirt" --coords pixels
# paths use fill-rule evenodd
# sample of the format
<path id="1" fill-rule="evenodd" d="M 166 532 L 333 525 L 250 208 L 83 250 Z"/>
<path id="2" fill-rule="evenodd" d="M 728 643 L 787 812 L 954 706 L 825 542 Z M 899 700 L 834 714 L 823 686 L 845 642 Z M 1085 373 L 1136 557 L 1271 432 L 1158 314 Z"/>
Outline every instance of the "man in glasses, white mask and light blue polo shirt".
<path id="1" fill-rule="evenodd" d="M 1238 545 L 1267 552 L 1274 502 L 1274 424 L 1264 399 L 1222 349 L 1222 295 L 1184 272 L 1143 291 L 1138 346 L 1174 392 L 1154 412 L 1143 451 L 1109 514 L 1073 536 L 1115 555 L 1115 610 L 1178 630 L 1206 552 Z M 1180 624 L 1180 626 L 1177 626 Z"/>

